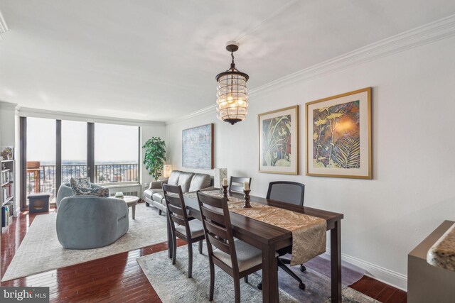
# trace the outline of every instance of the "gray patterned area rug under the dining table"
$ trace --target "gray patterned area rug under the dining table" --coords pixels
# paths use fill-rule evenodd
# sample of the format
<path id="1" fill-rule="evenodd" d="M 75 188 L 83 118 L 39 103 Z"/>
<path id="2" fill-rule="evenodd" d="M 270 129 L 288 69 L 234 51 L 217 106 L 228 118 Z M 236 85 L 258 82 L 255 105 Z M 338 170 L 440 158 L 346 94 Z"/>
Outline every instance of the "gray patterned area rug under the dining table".
<path id="1" fill-rule="evenodd" d="M 159 295 L 162 302 L 209 302 L 208 285 L 210 270 L 206 246 L 203 255 L 193 246 L 193 277 L 188 279 L 188 248 L 177 248 L 176 265 L 172 265 L 167 251 L 145 255 L 137 262 Z M 306 290 L 299 290 L 295 281 L 291 281 L 285 272 L 279 270 L 279 302 L 314 302 L 321 303 L 330 299 L 330 278 L 307 266 L 306 272 L 300 272 L 306 284 Z M 256 285 L 261 281 L 260 272 L 249 276 L 249 282 L 240 280 L 242 302 L 262 302 L 262 292 Z M 298 290 L 298 292 L 290 290 Z M 215 266 L 215 296 L 213 302 L 234 302 L 232 277 Z M 327 301 L 329 302 L 329 301 Z M 374 299 L 349 287 L 343 289 L 343 302 L 373 303 Z"/>

